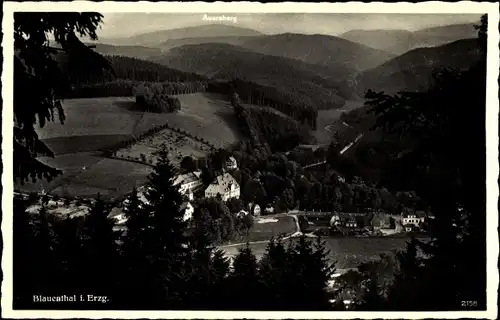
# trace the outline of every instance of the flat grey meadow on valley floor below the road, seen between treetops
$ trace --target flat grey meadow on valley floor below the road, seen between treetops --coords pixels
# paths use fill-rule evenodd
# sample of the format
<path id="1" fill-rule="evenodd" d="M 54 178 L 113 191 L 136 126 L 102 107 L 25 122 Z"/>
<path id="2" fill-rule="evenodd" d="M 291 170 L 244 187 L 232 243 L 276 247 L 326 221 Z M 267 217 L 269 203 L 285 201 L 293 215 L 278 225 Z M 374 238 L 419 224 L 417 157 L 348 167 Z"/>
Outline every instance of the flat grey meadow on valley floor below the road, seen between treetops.
<path id="1" fill-rule="evenodd" d="M 311 239 L 315 241 L 315 239 Z M 404 249 L 409 238 L 324 238 L 326 248 L 330 251 L 330 262 L 336 262 L 338 269 L 356 268 L 361 262 L 377 259 L 381 253 L 389 253 L 392 250 Z M 285 240 L 285 244 L 288 244 Z M 291 240 L 293 241 L 293 240 Z M 245 245 L 225 247 L 223 250 L 227 256 L 233 257 L 238 253 L 239 248 Z M 266 250 L 266 242 L 250 244 L 254 254 L 258 259 L 262 257 Z"/>

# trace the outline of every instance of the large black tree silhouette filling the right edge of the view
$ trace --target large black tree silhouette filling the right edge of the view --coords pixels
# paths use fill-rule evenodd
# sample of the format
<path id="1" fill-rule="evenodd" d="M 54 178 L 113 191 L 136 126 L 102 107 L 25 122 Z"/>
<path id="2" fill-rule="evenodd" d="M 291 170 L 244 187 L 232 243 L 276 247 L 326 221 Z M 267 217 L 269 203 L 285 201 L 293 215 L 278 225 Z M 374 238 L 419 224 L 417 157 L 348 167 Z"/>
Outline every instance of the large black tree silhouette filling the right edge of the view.
<path id="1" fill-rule="evenodd" d="M 418 244 L 426 259 L 416 260 L 415 251 L 410 256 L 416 262 L 403 266 L 407 272 L 402 271 L 397 293 L 389 297 L 394 309 L 457 310 L 467 300 L 485 307 L 486 16 L 477 29 L 482 58 L 469 70 L 437 70 L 435 84 L 426 92 L 366 96 L 377 115 L 376 126 L 410 142 L 393 162 L 399 168 L 393 172 L 400 181 L 410 179 L 436 216 L 430 223 L 432 240 Z M 416 281 L 411 274 L 419 264 L 425 267 L 425 280 Z M 402 305 L 398 296 L 404 292 L 413 299 Z"/>

